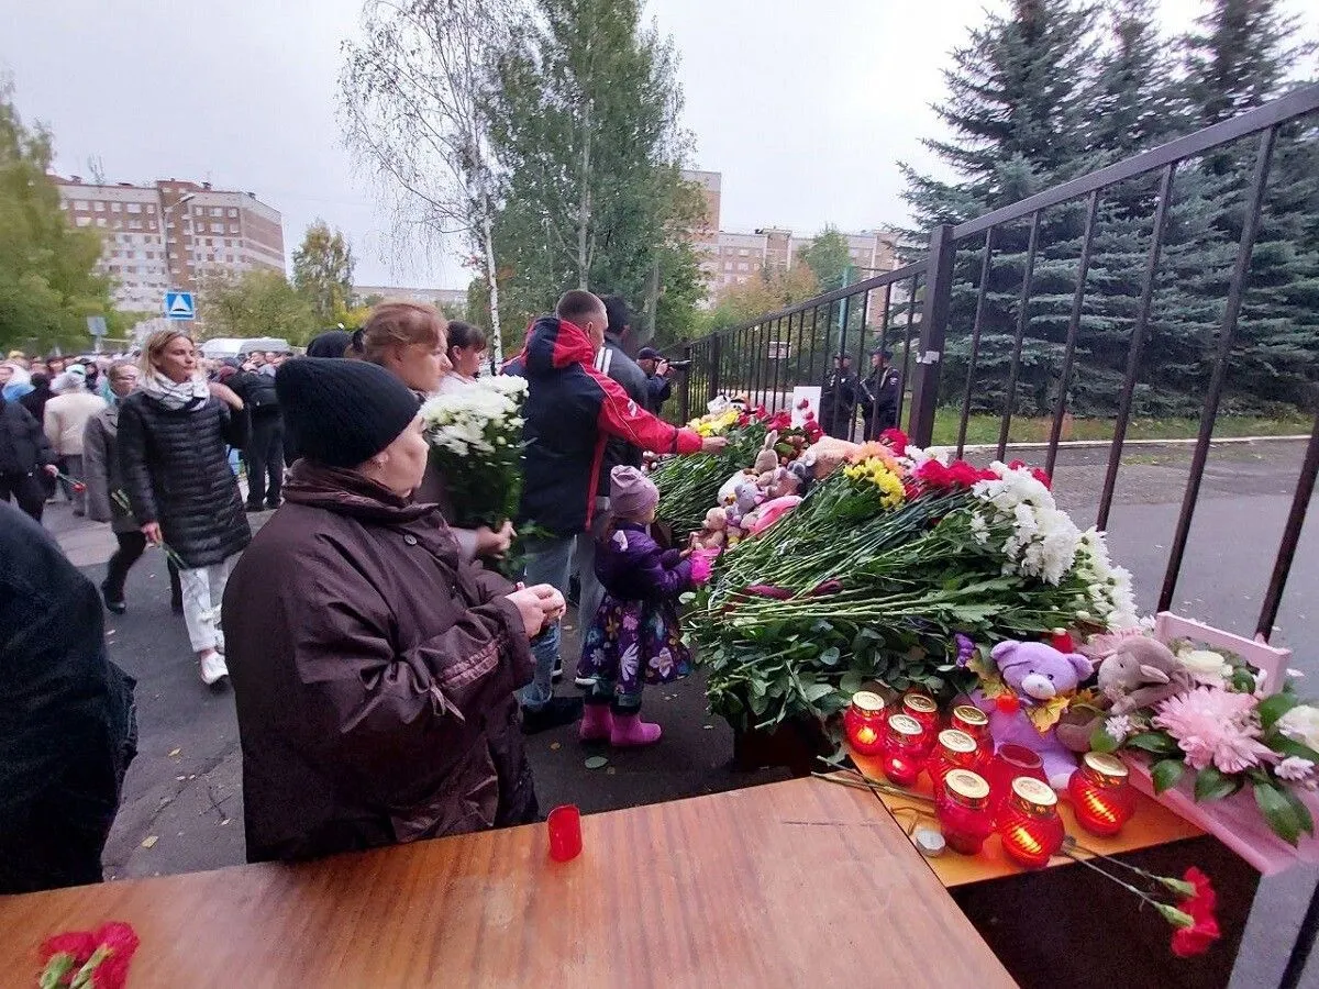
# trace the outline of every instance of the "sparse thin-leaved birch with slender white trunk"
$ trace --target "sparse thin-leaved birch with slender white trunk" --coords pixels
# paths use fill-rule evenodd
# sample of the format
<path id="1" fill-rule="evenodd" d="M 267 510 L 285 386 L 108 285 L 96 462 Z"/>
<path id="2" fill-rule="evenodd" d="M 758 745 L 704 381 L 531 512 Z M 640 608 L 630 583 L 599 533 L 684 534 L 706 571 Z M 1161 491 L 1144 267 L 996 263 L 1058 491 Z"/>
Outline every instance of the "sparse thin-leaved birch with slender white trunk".
<path id="1" fill-rule="evenodd" d="M 363 40 L 343 44 L 344 141 L 375 179 L 401 244 L 460 236 L 485 272 L 491 349 L 504 359 L 487 87 L 517 0 L 367 0 Z"/>

